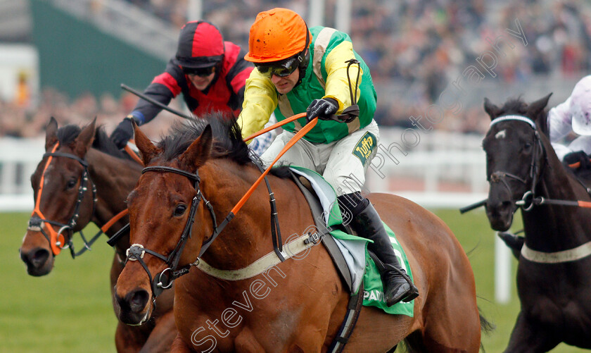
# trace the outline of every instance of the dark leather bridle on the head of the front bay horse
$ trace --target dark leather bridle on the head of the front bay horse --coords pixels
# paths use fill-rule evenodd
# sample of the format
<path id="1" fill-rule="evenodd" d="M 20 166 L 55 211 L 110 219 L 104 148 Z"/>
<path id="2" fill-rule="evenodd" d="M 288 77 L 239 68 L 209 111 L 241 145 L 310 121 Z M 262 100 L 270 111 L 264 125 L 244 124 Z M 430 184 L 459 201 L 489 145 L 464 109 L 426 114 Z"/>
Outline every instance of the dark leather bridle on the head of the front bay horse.
<path id="1" fill-rule="evenodd" d="M 189 264 L 177 269 L 177 266 L 179 265 L 179 261 L 181 259 L 182 251 L 186 245 L 187 240 L 189 240 L 189 237 L 191 237 L 191 230 L 193 228 L 193 223 L 195 221 L 195 213 L 197 211 L 199 203 L 201 202 L 201 199 L 203 199 L 203 202 L 205 202 L 205 206 L 210 211 L 213 231 L 210 237 L 208 237 L 208 239 L 205 240 L 205 242 L 203 242 L 203 244 L 201 245 L 201 252 L 199 252 L 198 257 L 200 257 L 203 254 L 203 252 L 205 252 L 205 250 L 208 249 L 211 242 L 215 240 L 217 235 L 220 234 L 220 232 L 224 229 L 224 227 L 231 220 L 231 218 L 234 218 L 234 215 L 229 215 L 226 219 L 224 219 L 220 226 L 217 225 L 213 207 L 211 206 L 210 202 L 207 199 L 205 199 L 205 197 L 203 197 L 201 189 L 199 188 L 199 182 L 201 182 L 201 178 L 199 177 L 198 172 L 189 173 L 186 171 L 182 171 L 181 169 L 167 166 L 151 166 L 146 167 L 144 168 L 144 170 L 141 171 L 142 174 L 146 172 L 176 173 L 179 175 L 184 175 L 186 178 L 189 178 L 190 180 L 195 182 L 194 186 L 195 190 L 197 191 L 196 196 L 193 197 L 193 200 L 191 201 L 191 209 L 189 209 L 189 218 L 186 221 L 179 242 L 177 242 L 177 246 L 174 247 L 174 249 L 168 256 L 164 256 L 163 254 L 159 254 L 158 252 L 154 252 L 153 250 L 146 249 L 142 244 L 132 244 L 132 246 L 129 247 L 129 249 L 127 249 L 127 257 L 125 261 L 138 261 L 139 264 L 141 264 L 141 266 L 144 268 L 146 273 L 148 273 L 148 278 L 150 278 L 150 283 L 152 286 L 152 298 L 153 301 L 155 301 L 155 298 L 158 297 L 158 295 L 160 295 L 160 293 L 162 293 L 163 290 L 170 288 L 172 286 L 172 282 L 175 279 L 179 278 L 180 276 L 186 273 L 189 273 L 189 268 L 191 268 L 191 266 L 193 265 Z M 150 270 L 148 269 L 148 266 L 146 266 L 146 263 L 143 260 L 144 254 L 146 252 L 148 254 L 156 256 L 158 259 L 163 260 L 167 265 L 167 268 L 165 268 L 163 271 L 160 271 L 160 273 L 156 274 L 153 278 Z"/>

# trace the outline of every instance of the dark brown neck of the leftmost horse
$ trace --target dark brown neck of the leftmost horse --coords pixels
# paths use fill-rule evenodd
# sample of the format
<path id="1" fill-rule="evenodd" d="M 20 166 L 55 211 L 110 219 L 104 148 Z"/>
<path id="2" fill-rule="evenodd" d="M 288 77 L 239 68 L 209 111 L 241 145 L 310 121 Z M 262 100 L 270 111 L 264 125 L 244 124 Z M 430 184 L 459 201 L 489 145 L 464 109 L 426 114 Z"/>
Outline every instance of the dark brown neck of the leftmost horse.
<path id="1" fill-rule="evenodd" d="M 133 161 L 110 156 L 98 149 L 89 149 L 86 160 L 89 163 L 91 182 L 96 187 L 97 201 L 92 221 L 98 227 L 102 227 L 113 216 L 127 209 L 127 194 L 136 185 L 142 167 Z M 106 233 L 113 235 L 122 225 L 125 225 L 125 222 L 118 221 Z M 126 248 L 129 247 L 128 243 L 125 244 Z"/>

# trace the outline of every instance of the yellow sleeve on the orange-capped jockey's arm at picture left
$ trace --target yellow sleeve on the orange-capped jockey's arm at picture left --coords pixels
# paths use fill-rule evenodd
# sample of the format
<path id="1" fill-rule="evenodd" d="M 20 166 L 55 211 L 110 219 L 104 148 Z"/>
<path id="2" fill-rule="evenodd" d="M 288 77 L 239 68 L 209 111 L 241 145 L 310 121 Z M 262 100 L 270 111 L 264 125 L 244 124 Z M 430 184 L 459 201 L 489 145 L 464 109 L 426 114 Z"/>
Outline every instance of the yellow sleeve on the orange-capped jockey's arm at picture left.
<path id="1" fill-rule="evenodd" d="M 248 137 L 261 130 L 276 107 L 277 91 L 273 82 L 255 68 L 246 80 L 242 111 L 238 117 L 242 137 Z"/>

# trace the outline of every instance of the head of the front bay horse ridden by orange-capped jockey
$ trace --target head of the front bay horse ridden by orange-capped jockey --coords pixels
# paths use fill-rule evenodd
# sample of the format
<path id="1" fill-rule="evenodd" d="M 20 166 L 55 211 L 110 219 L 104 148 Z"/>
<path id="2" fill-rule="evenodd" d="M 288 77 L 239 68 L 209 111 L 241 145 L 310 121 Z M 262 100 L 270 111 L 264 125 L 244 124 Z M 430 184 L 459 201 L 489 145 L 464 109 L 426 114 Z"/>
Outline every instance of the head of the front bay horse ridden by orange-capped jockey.
<path id="1" fill-rule="evenodd" d="M 117 280 L 115 302 L 120 320 L 138 325 L 151 316 L 150 299 L 188 271 L 203 240 L 213 232 L 198 175 L 210 156 L 212 129 L 206 125 L 189 147 L 186 140 L 183 144 L 170 137 L 157 147 L 137 126 L 134 129 L 146 168 L 127 198 L 132 246 Z M 172 153 L 166 148 L 171 145 Z M 198 223 L 194 230 L 193 221 Z"/>

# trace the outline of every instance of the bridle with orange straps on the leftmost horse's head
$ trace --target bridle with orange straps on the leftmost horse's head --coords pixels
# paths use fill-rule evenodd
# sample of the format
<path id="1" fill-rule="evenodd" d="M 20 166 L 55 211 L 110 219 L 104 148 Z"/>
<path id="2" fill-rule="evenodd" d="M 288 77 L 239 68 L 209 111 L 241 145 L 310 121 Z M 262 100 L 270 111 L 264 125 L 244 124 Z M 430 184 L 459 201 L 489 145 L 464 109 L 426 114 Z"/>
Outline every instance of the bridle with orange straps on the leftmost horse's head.
<path id="1" fill-rule="evenodd" d="M 80 159 L 80 157 L 75 156 L 74 154 L 56 152 L 56 149 L 58 149 L 58 145 L 59 145 L 59 143 L 53 147 L 51 152 L 47 152 L 43 155 L 43 158 L 49 157 L 49 159 L 47 160 L 47 162 L 45 164 L 45 168 L 43 169 L 43 172 L 42 172 L 42 178 L 41 178 L 41 182 L 39 185 L 39 192 L 37 194 L 37 202 L 35 204 L 35 208 L 34 208 L 32 214 L 31 214 L 31 218 L 28 222 L 27 230 L 41 232 L 44 235 L 44 237 L 47 239 L 47 241 L 49 242 L 49 245 L 51 247 L 51 251 L 53 252 L 54 256 L 59 254 L 62 249 L 68 248 L 68 249 L 70 249 L 70 254 L 72 254 L 72 258 L 75 258 L 76 256 L 82 254 L 87 249 L 90 249 L 90 245 L 94 242 L 94 240 L 96 240 L 96 237 L 94 237 L 90 242 L 87 242 L 86 238 L 84 238 L 84 235 L 82 234 L 82 230 L 80 230 L 78 233 L 80 233 L 80 236 L 82 237 L 82 240 L 84 241 L 84 248 L 80 252 L 76 253 L 74 250 L 74 245 L 72 244 L 73 234 L 70 235 L 70 238 L 68 239 L 67 244 L 65 244 L 65 237 L 63 235 L 63 233 L 66 231 L 72 232 L 72 230 L 75 228 L 75 226 L 77 224 L 78 218 L 80 218 L 80 206 L 82 204 L 82 200 L 84 199 L 84 194 L 88 190 L 87 189 L 87 184 L 89 182 L 88 163 L 87 163 L 87 161 Z M 68 223 L 60 223 L 57 221 L 52 221 L 52 220 L 46 219 L 43 216 L 42 211 L 39 209 L 39 204 L 40 204 L 42 190 L 43 190 L 44 173 L 47 170 L 47 168 L 49 167 L 49 163 L 51 163 L 51 159 L 53 157 L 65 157 L 65 158 L 69 158 L 69 159 L 74 159 L 75 161 L 78 161 L 78 163 L 80 163 L 82 168 L 84 168 L 84 171 L 82 171 L 82 175 L 80 177 L 80 186 L 78 187 L 78 196 L 77 196 L 76 204 L 74 206 L 74 212 L 73 212 L 72 216 L 70 217 L 70 220 L 68 221 Z M 94 183 L 91 183 L 91 184 L 92 184 L 92 200 L 93 200 L 91 214 L 94 214 L 94 210 L 96 209 L 96 201 L 97 201 L 96 200 L 96 186 L 94 185 Z M 45 223 L 49 223 L 51 225 L 57 225 L 58 227 L 60 227 L 60 229 L 56 233 L 56 231 L 53 230 L 53 228 L 51 228 L 51 226 L 48 226 L 46 228 Z M 46 233 L 45 228 L 49 231 L 49 235 Z"/>

